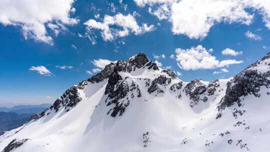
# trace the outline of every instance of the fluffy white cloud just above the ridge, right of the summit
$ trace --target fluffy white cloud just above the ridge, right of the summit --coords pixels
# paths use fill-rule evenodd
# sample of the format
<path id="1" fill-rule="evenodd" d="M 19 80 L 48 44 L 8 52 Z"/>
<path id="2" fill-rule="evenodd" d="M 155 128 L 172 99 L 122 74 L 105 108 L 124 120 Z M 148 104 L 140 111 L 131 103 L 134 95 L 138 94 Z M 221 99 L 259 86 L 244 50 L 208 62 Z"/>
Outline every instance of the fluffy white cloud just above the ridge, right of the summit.
<path id="1" fill-rule="evenodd" d="M 219 61 L 215 56 L 210 54 L 209 50 L 205 49 L 201 45 L 188 49 L 176 48 L 175 52 L 177 65 L 185 70 L 212 69 L 243 62 L 235 59 Z"/>

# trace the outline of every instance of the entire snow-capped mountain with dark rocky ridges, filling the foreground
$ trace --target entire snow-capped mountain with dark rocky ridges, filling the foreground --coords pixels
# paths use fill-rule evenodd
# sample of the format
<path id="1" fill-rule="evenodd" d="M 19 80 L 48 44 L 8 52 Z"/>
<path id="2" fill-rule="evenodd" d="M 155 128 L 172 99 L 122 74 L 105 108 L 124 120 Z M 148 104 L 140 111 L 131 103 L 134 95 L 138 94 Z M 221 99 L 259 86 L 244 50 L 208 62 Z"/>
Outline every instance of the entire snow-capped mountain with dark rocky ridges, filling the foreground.
<path id="1" fill-rule="evenodd" d="M 7 151 L 269 151 L 270 53 L 230 79 L 183 82 L 140 52 L 0 136 Z"/>

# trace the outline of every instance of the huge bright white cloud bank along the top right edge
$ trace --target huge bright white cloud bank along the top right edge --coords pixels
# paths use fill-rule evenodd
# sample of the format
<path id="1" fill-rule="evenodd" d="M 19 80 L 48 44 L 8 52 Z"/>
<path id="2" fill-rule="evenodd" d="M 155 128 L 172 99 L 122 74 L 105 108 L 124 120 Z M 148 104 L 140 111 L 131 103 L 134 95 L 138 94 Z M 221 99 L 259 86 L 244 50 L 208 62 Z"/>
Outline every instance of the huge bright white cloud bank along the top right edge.
<path id="1" fill-rule="evenodd" d="M 189 38 L 204 38 L 217 23 L 240 23 L 249 25 L 256 10 L 270 29 L 269 0 L 134 0 L 140 7 L 148 5 L 148 12 L 158 19 L 171 22 L 174 34 Z"/>

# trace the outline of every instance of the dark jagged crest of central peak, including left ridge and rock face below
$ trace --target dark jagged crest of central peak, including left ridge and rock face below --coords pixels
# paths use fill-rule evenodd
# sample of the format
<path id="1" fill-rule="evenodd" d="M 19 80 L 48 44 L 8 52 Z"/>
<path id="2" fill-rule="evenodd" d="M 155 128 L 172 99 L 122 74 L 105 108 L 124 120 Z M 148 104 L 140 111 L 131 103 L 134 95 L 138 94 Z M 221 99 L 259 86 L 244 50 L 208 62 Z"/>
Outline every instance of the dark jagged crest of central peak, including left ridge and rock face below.
<path id="1" fill-rule="evenodd" d="M 103 70 L 101 70 L 96 75 L 88 78 L 87 80 L 81 81 L 78 85 L 73 85 L 72 87 L 68 88 L 63 95 L 57 98 L 54 103 L 50 106 L 49 109 L 45 109 L 41 113 L 33 114 L 30 120 L 36 120 L 45 114 L 49 114 L 49 110 L 54 110 L 57 112 L 60 107 L 64 107 L 65 111 L 69 111 L 72 107 L 74 107 L 82 98 L 78 92 L 78 89 L 83 89 L 88 83 L 98 83 L 103 81 L 104 79 L 108 79 L 108 84 L 106 86 L 105 94 L 108 94 L 106 99 L 107 105 L 115 104 L 111 111 L 111 116 L 116 116 L 119 112 L 119 115 L 124 111 L 125 107 L 129 104 L 129 102 L 123 103 L 118 101 L 126 96 L 128 91 L 137 91 L 137 96 L 140 96 L 140 90 L 134 82 L 127 82 L 128 77 L 121 78 L 117 72 L 131 72 L 135 71 L 137 68 L 147 68 L 158 70 L 158 66 L 156 63 L 152 62 L 148 59 L 144 52 L 140 52 L 129 57 L 128 60 L 118 60 L 116 62 L 111 62 L 110 64 L 106 65 Z M 170 73 L 169 71 L 164 71 Z M 175 74 L 174 74 L 175 75 Z M 114 86 L 117 85 L 117 86 Z M 116 87 L 118 89 L 113 90 Z M 112 89 L 111 89 L 112 88 Z M 135 88 L 135 89 L 134 89 Z M 131 97 L 134 95 L 134 92 L 131 93 Z M 110 100 L 110 101 L 108 101 Z M 108 113 L 110 113 L 108 111 Z"/>

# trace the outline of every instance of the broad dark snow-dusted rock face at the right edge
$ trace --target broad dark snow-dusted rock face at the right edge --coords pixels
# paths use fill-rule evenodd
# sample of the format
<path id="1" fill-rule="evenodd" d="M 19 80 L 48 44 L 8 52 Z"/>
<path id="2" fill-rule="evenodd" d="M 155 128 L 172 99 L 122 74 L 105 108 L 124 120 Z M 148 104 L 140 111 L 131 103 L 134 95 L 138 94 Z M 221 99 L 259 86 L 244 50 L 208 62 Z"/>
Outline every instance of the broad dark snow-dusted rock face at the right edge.
<path id="1" fill-rule="evenodd" d="M 217 106 L 218 111 L 223 110 L 226 106 L 231 106 L 235 102 L 241 106 L 240 97 L 248 94 L 253 94 L 259 97 L 259 90 L 261 86 L 269 87 L 270 71 L 261 73 L 256 69 L 246 69 L 235 75 L 233 79 L 227 82 L 227 89 L 224 97 L 220 100 Z"/>

